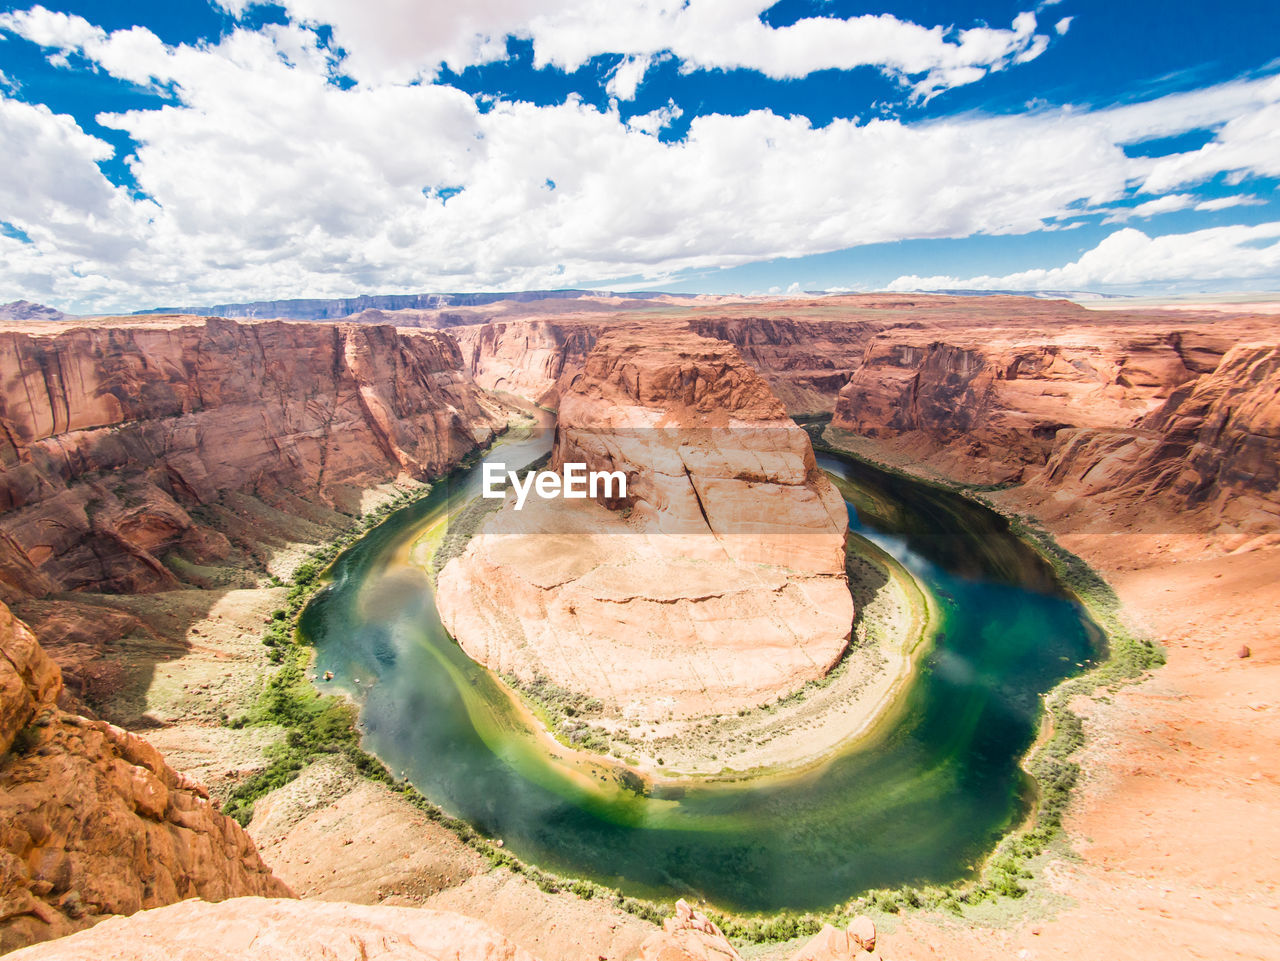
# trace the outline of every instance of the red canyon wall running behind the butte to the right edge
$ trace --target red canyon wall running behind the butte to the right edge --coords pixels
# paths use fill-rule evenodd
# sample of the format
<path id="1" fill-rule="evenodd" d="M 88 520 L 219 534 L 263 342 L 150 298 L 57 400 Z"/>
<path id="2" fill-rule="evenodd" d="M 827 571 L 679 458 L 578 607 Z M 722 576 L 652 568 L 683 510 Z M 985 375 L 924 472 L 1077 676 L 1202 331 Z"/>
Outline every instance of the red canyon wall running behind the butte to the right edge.
<path id="1" fill-rule="evenodd" d="M 452 333 L 480 383 L 557 406 L 591 344 L 632 320 Z M 1039 508 L 1060 495 L 1190 512 L 1184 526 L 1231 544 L 1277 521 L 1277 339 L 1261 315 L 867 294 L 652 322 L 733 344 L 794 415 L 831 412 L 846 436 L 951 477 L 1024 485 Z"/>

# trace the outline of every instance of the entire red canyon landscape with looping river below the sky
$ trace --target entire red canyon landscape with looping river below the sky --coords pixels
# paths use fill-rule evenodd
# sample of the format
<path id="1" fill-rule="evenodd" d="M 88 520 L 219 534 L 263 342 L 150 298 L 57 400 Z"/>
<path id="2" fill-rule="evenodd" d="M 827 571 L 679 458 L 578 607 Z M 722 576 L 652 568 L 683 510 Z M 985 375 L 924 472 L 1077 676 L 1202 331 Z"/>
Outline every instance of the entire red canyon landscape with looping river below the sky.
<path id="1" fill-rule="evenodd" d="M 1184 813 L 1265 834 L 1265 315 L 466 320 L 5 322 L 5 949 L 182 910 L 297 956 L 308 924 L 513 957 L 774 924 L 851 957 L 874 921 L 983 956 L 940 905 L 1053 943 L 1098 878 L 1215 883 L 1179 880 Z M 517 512 L 480 456 L 626 494 Z M 192 897 L 248 900 L 165 907 Z"/>

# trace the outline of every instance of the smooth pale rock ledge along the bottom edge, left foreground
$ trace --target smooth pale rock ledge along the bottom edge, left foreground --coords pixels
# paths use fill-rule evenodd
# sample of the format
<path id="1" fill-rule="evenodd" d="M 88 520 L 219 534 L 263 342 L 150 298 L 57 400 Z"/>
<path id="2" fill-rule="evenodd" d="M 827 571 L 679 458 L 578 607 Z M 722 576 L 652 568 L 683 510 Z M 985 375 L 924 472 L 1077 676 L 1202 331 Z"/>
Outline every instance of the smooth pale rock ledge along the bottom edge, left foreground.
<path id="1" fill-rule="evenodd" d="M 184 901 L 12 955 L 14 961 L 534 961 L 481 921 L 421 907 L 239 897 Z"/>

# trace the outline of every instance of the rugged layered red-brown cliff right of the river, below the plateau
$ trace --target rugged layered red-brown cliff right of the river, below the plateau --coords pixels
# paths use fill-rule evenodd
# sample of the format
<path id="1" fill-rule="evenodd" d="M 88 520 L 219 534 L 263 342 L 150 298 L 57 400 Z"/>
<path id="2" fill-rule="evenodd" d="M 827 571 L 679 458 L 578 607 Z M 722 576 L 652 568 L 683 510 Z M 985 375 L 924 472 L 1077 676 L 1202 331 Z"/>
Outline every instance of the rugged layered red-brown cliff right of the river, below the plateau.
<path id="1" fill-rule="evenodd" d="M 1280 347 L 1256 339 L 1258 320 L 1070 319 L 881 333 L 832 426 L 951 476 L 1021 484 L 1029 503 L 1055 499 L 1038 509 L 1088 503 L 1148 526 L 1176 513 L 1226 540 L 1274 531 Z"/>

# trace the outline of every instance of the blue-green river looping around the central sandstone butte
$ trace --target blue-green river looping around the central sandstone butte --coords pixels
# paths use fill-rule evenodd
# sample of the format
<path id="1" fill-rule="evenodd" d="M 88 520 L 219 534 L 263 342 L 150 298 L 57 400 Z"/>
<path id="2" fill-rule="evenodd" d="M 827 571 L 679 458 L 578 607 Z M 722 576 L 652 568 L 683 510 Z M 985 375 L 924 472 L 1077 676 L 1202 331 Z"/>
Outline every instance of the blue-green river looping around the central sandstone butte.
<path id="1" fill-rule="evenodd" d="M 549 439 L 490 457 L 529 463 Z M 829 454 L 850 526 L 938 601 L 940 632 L 900 709 L 804 772 L 640 795 L 584 773 L 444 631 L 410 545 L 479 493 L 477 465 L 442 480 L 347 550 L 303 612 L 316 671 L 360 705 L 365 746 L 448 813 L 541 868 L 634 896 L 736 911 L 820 909 L 877 887 L 972 874 L 1029 807 L 1019 768 L 1041 695 L 1100 639 L 1039 555 L 964 498 Z M 328 685 L 326 685 L 328 687 Z"/>

